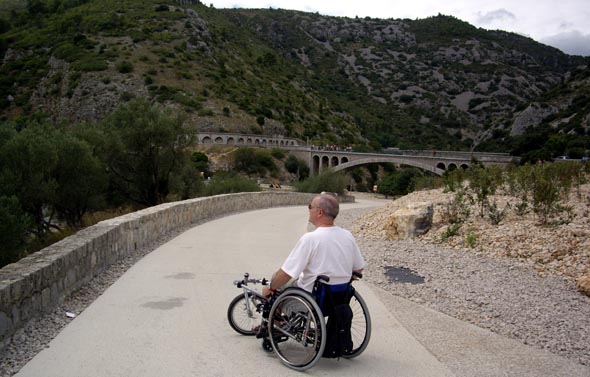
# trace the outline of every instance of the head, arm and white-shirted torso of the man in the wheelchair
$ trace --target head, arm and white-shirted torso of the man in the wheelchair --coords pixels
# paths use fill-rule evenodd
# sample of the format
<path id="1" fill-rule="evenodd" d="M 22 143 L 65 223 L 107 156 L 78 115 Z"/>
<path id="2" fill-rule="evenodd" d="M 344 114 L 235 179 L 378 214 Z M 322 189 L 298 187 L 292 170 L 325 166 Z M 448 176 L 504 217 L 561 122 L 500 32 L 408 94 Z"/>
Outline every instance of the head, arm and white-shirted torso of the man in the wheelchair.
<path id="1" fill-rule="evenodd" d="M 340 210 L 338 200 L 329 194 L 318 195 L 308 209 L 309 222 L 316 229 L 301 236 L 268 288 L 262 289 L 265 297 L 290 286 L 311 292 L 319 275 L 328 276 L 330 285 L 347 284 L 352 271 L 361 272 L 365 267 L 354 236 L 334 225 Z"/>

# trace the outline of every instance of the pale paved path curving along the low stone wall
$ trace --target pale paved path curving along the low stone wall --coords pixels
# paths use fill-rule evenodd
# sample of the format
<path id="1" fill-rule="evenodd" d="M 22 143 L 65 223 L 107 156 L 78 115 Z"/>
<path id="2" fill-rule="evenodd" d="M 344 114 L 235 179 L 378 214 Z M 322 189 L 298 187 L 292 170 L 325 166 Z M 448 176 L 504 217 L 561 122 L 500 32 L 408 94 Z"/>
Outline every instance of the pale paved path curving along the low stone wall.
<path id="1" fill-rule="evenodd" d="M 383 202 L 359 200 L 353 206 Z M 18 376 L 299 375 L 235 333 L 226 320 L 245 271 L 269 277 L 307 228 L 307 209 L 228 216 L 194 227 L 147 255 L 73 320 Z M 322 359 L 309 375 L 451 376 L 373 290 L 359 282 L 373 336 L 354 360 Z"/>

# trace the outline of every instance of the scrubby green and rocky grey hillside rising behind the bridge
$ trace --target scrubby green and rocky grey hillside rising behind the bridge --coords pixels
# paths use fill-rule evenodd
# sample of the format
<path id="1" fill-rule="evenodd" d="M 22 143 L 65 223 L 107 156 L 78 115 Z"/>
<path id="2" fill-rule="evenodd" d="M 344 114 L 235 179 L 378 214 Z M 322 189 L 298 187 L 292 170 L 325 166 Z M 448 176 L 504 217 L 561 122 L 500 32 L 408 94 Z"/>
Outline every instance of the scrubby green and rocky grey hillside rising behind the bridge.
<path id="1" fill-rule="evenodd" d="M 573 100 L 535 109 L 577 67 L 588 72 L 587 58 L 443 15 L 352 19 L 190 0 L 11 4 L 0 9 L 7 120 L 42 113 L 93 122 L 149 97 L 185 113 L 195 130 L 506 151 L 522 124 L 570 117 Z M 567 123 L 585 134 L 588 114 L 585 107 Z"/>

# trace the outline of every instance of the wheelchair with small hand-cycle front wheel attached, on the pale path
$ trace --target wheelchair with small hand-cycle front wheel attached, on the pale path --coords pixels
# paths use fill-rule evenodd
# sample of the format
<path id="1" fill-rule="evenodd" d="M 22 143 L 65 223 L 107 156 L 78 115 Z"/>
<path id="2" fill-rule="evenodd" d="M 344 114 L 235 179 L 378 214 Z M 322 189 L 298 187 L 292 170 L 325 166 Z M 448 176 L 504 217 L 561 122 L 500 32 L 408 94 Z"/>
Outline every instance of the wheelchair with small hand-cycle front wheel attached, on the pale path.
<path id="1" fill-rule="evenodd" d="M 347 301 L 350 300 L 353 314 L 353 348 L 342 355 L 347 359 L 359 356 L 371 337 L 371 317 L 367 304 L 351 284 L 360 277 L 362 275 L 359 273 L 353 274 L 348 284 Z M 319 276 L 311 294 L 300 288 L 287 288 L 266 300 L 256 289 L 248 287 L 248 283 L 266 285 L 268 281 L 249 279 L 246 273 L 244 279 L 234 282 L 243 289 L 243 293 L 235 297 L 228 307 L 229 324 L 242 335 L 262 337 L 262 348 L 267 352 L 274 351 L 285 366 L 298 371 L 307 370 L 319 361 L 326 347 L 324 312 L 328 311 L 320 292 L 325 292 L 326 287 L 329 287 L 328 281 L 328 277 Z M 256 325 L 265 326 L 266 330 L 260 334 L 255 330 Z"/>

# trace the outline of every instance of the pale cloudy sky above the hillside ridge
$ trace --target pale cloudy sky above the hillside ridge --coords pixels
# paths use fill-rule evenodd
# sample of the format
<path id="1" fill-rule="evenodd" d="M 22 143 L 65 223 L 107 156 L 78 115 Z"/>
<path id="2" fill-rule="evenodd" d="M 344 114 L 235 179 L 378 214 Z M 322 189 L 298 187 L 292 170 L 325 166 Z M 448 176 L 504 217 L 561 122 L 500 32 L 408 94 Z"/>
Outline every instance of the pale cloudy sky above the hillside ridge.
<path id="1" fill-rule="evenodd" d="M 215 8 L 282 8 L 330 16 L 425 18 L 439 13 L 590 56 L 590 0 L 201 0 Z"/>

